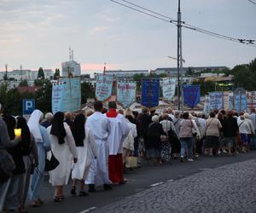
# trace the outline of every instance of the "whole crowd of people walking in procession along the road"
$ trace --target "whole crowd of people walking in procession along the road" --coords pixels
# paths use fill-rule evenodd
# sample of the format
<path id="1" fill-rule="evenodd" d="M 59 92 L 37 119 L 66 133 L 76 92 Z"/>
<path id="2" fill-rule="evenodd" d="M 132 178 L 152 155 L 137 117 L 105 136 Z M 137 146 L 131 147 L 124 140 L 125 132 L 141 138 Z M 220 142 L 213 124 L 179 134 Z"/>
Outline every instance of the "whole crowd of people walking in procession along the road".
<path id="1" fill-rule="evenodd" d="M 21 129 L 21 135 L 15 129 Z M 70 193 L 81 197 L 99 187 L 111 190 L 114 184 L 124 184 L 127 157 L 137 158 L 140 167 L 146 160 L 160 165 L 175 159 L 193 162 L 199 155 L 247 153 L 256 149 L 255 130 L 254 109 L 251 114 L 214 110 L 206 116 L 171 108 L 158 114 L 145 107 L 138 113 L 117 111 L 114 101 L 106 110 L 96 101 L 94 111 L 76 114 L 44 116 L 35 110 L 27 123 L 25 118 L 3 113 L 0 211 L 26 212 L 27 199 L 33 207 L 44 204 L 40 195 L 46 162 L 52 159 L 55 167 L 49 169 L 49 183 L 55 187 L 54 201 L 61 202 L 69 181 Z"/>

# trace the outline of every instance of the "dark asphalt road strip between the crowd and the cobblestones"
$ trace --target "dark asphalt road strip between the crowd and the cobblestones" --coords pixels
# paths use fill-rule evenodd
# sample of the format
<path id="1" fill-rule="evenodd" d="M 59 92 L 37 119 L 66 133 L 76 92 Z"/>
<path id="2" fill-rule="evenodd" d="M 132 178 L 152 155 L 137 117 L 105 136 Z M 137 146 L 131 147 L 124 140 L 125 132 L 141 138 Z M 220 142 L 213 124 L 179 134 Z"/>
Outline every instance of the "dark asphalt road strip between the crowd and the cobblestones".
<path id="1" fill-rule="evenodd" d="M 35 213 L 85 213 L 90 210 L 98 210 L 108 204 L 113 204 L 128 196 L 143 192 L 146 189 L 156 187 L 168 181 L 177 181 L 179 179 L 200 173 L 203 170 L 218 168 L 225 164 L 233 164 L 248 159 L 256 158 L 256 152 L 241 153 L 236 156 L 217 156 L 217 157 L 199 157 L 193 163 L 180 163 L 178 160 L 172 160 L 172 164 L 163 164 L 160 166 L 150 166 L 147 162 L 143 168 L 131 170 L 125 174 L 128 182 L 125 185 L 114 186 L 111 191 L 103 191 L 101 188 L 96 193 L 90 193 L 88 197 L 72 197 L 69 193 L 70 186 L 65 188 L 66 199 L 61 203 L 54 203 L 54 189 L 48 183 L 48 177 L 45 177 L 44 188 L 41 199 L 44 205 L 39 208 L 32 208 L 28 204 L 28 211 Z M 203 176 L 203 173 L 200 173 Z M 201 176 L 200 175 L 200 176 Z"/>

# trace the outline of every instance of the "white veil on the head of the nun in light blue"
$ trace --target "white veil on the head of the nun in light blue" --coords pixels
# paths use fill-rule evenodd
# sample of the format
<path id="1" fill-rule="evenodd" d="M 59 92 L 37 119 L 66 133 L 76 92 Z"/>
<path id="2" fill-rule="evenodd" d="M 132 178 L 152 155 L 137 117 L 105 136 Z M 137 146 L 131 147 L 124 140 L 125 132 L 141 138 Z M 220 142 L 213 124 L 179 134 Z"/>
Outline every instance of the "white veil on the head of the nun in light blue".
<path id="1" fill-rule="evenodd" d="M 27 125 L 32 133 L 32 135 L 35 138 L 35 141 L 37 142 L 43 142 L 43 138 L 41 135 L 40 127 L 39 127 L 39 120 L 43 116 L 43 112 L 36 109 L 34 112 L 32 112 L 31 117 L 29 118 Z"/>

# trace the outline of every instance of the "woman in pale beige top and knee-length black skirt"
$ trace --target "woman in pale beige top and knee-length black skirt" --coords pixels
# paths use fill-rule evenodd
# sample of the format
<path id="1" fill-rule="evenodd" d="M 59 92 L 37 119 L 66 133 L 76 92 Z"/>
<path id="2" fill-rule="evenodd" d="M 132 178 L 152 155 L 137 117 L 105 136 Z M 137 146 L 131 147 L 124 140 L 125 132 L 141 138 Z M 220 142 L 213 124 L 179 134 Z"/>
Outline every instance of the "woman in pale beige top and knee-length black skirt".
<path id="1" fill-rule="evenodd" d="M 212 156 L 212 150 L 218 151 L 219 147 L 219 131 L 222 125 L 214 112 L 210 113 L 210 118 L 206 123 L 206 148 L 209 149 L 209 156 Z"/>

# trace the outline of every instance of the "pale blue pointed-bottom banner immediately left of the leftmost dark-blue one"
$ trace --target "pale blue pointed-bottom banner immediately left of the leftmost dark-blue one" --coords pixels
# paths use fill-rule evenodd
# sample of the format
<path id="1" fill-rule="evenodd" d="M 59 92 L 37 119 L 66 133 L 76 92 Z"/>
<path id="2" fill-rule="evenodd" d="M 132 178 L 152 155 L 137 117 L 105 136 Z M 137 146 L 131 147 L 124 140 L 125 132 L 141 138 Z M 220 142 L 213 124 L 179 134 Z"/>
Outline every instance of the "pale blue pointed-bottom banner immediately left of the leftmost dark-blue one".
<path id="1" fill-rule="evenodd" d="M 136 82 L 117 83 L 117 101 L 128 108 L 136 100 Z"/>

